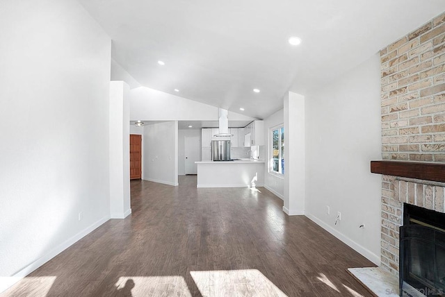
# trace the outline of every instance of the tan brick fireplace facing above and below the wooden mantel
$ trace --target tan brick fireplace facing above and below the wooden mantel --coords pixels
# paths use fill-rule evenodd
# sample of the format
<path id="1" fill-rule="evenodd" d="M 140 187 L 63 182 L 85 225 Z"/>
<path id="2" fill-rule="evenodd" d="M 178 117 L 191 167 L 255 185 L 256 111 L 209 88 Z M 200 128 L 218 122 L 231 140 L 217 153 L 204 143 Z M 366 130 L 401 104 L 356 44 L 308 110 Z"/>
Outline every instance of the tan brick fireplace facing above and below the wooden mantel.
<path id="1" fill-rule="evenodd" d="M 382 159 L 445 162 L 445 13 L 380 51 Z M 403 203 L 445 212 L 445 183 L 382 176 L 381 266 L 398 274 Z"/>

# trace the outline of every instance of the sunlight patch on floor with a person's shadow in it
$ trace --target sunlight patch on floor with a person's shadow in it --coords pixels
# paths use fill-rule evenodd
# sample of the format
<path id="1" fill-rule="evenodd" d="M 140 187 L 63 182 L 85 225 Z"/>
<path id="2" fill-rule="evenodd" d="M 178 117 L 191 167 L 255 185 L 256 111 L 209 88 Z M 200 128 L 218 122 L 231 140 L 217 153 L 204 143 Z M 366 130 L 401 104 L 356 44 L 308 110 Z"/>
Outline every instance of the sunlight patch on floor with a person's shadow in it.
<path id="1" fill-rule="evenodd" d="M 186 280 L 179 275 L 122 276 L 115 287 L 119 296 L 192 296 Z"/>

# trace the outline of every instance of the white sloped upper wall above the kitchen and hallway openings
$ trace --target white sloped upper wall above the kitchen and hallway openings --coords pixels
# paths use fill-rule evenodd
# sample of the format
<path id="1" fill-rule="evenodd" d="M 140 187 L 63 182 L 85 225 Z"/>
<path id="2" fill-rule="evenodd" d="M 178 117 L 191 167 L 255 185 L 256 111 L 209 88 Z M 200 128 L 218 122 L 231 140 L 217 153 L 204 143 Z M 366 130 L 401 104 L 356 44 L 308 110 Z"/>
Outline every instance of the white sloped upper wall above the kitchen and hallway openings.
<path id="1" fill-rule="evenodd" d="M 137 87 L 130 91 L 130 119 L 150 121 L 217 121 L 219 110 L 215 106 L 182 98 L 172 94 Z M 229 112 L 230 121 L 253 121 L 236 112 Z"/>

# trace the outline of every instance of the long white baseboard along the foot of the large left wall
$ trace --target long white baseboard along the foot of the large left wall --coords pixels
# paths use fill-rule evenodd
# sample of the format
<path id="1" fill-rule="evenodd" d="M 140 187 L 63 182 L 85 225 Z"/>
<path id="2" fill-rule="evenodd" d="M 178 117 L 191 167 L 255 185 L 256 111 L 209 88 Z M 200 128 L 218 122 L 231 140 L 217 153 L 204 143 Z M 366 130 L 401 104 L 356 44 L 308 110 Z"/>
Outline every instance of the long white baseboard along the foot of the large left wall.
<path id="1" fill-rule="evenodd" d="M 85 237 L 90 232 L 95 230 L 97 227 L 101 226 L 103 223 L 108 221 L 110 217 L 103 217 L 102 219 L 99 219 L 99 221 L 93 223 L 92 225 L 88 226 L 87 228 L 83 229 L 81 232 L 77 233 L 73 237 L 65 240 L 62 244 L 59 244 L 55 248 L 51 249 L 51 251 L 48 251 L 45 255 L 42 255 L 42 257 L 39 257 L 34 262 L 31 262 L 31 264 L 24 267 L 24 269 L 18 271 L 17 273 L 14 273 L 12 276 L 8 277 L 1 277 L 0 278 L 0 293 L 8 289 L 9 287 L 12 287 L 16 282 L 19 282 L 19 280 L 22 280 L 26 275 L 29 275 L 29 273 L 35 271 L 35 269 L 38 269 L 40 266 L 51 260 L 52 258 L 56 257 L 56 255 L 62 253 L 65 251 L 65 249 L 69 248 L 73 244 L 76 243 L 76 241 L 79 241 L 82 239 L 82 237 Z"/>

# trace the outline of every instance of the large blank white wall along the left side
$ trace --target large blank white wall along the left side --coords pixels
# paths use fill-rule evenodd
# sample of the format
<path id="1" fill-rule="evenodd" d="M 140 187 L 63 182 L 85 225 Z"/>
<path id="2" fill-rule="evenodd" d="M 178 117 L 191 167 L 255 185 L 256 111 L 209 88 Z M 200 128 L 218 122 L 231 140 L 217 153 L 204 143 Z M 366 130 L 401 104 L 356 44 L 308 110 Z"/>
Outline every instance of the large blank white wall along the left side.
<path id="1" fill-rule="evenodd" d="M 20 276 L 109 218 L 111 39 L 74 0 L 0 6 L 0 275 Z"/>

